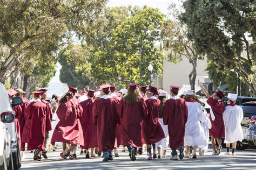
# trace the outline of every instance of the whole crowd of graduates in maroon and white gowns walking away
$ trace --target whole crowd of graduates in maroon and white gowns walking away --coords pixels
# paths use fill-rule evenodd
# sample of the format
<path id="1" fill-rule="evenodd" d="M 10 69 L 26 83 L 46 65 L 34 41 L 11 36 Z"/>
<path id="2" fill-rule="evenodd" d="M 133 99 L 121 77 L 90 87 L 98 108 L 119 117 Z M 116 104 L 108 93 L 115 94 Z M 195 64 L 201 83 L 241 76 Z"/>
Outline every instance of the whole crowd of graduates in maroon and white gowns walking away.
<path id="1" fill-rule="evenodd" d="M 226 155 L 235 155 L 238 140 L 243 139 L 241 129 L 242 109 L 235 104 L 237 95 L 228 94 L 229 104 L 225 107 L 221 98 L 223 91 L 208 94 L 204 86 L 200 86 L 208 98 L 210 114 L 204 109 L 204 103 L 187 90 L 178 96 L 178 86 L 170 87 L 169 93 L 153 86 L 139 87 L 138 83 L 128 85 L 128 89 L 118 93 L 115 86 L 104 84 L 97 89 L 82 91 L 69 87 L 69 91 L 61 97 L 53 95 L 53 100 L 46 101 L 47 89 L 33 92 L 33 100 L 23 97 L 22 89 L 9 89 L 9 97 L 21 97 L 23 103 L 15 106 L 16 125 L 19 147 L 24 158 L 26 150 L 33 151 L 35 161 L 48 158 L 47 148 L 50 144 L 62 143 L 63 159 L 75 159 L 77 145 L 86 158 L 103 153 L 103 161 L 113 160 L 112 153 L 118 157 L 117 148 L 123 145 L 129 151 L 131 160 L 136 154 L 143 153 L 146 146 L 148 160 L 165 158 L 166 149 L 171 148 L 171 160 L 197 158 L 208 149 L 209 133 L 211 136 L 213 155 L 221 152 L 221 137 L 225 137 Z M 86 100 L 79 100 L 81 96 Z M 218 147 L 215 146 L 217 139 Z M 185 155 L 184 155 L 185 146 Z M 91 155 L 89 154 L 91 148 Z M 191 153 L 192 148 L 192 153 Z M 156 150 L 157 149 L 157 150 Z M 113 151 L 113 152 L 112 152 Z"/>

